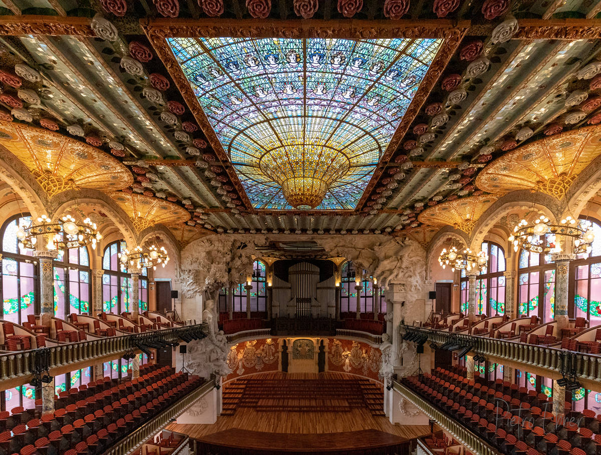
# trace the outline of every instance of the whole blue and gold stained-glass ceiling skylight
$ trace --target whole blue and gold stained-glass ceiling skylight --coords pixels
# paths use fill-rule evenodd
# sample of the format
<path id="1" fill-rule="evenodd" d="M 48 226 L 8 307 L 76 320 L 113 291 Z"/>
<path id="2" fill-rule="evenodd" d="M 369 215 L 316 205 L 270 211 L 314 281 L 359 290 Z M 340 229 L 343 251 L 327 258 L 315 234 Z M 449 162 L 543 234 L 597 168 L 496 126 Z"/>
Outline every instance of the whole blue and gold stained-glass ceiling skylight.
<path id="1" fill-rule="evenodd" d="M 355 208 L 441 42 L 169 38 L 266 209 Z"/>

